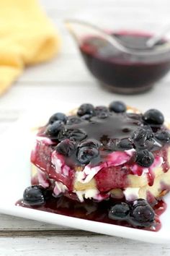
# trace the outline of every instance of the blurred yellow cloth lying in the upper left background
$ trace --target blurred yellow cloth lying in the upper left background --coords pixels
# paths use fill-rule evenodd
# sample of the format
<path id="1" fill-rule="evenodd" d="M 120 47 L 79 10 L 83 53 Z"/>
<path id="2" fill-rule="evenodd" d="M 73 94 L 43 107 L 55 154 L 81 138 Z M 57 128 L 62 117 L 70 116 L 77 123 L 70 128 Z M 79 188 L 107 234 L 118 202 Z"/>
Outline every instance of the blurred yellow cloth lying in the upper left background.
<path id="1" fill-rule="evenodd" d="M 0 95 L 25 65 L 50 59 L 59 45 L 37 0 L 0 0 Z"/>

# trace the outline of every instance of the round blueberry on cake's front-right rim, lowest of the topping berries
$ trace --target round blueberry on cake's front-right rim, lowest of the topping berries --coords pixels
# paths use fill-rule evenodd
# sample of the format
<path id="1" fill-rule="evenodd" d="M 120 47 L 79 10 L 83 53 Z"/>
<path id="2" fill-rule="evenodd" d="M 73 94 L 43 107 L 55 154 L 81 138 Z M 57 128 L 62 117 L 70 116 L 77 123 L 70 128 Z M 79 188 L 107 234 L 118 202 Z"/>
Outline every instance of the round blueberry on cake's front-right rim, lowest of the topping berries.
<path id="1" fill-rule="evenodd" d="M 149 167 L 154 161 L 153 153 L 148 150 L 139 150 L 136 153 L 136 163 L 143 167 Z"/>

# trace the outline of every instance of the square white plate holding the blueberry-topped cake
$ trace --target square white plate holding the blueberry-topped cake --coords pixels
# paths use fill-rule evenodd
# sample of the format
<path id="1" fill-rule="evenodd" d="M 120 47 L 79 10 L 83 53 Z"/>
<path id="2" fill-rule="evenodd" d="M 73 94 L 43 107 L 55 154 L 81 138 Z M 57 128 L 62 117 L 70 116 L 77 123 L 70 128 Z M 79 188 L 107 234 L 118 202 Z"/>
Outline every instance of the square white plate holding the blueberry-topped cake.
<path id="1" fill-rule="evenodd" d="M 53 112 L 50 112 L 53 114 Z M 152 243 L 170 242 L 170 195 L 166 196 L 168 207 L 161 216 L 162 228 L 158 232 L 132 229 L 113 224 L 87 221 L 79 218 L 61 216 L 55 213 L 47 213 L 40 210 L 32 210 L 15 206 L 15 202 L 22 198 L 24 188 L 30 185 L 30 149 L 32 135 L 30 127 L 35 124 L 34 114 L 32 118 L 22 119 L 1 135 L 0 148 L 0 212 L 9 215 L 30 218 L 37 221 L 69 226 L 75 229 L 121 236 Z M 48 114 L 46 115 L 48 116 Z M 36 117 L 40 121 L 40 116 Z M 29 120 L 29 121 L 28 121 Z M 32 121 L 30 121 L 32 120 Z M 47 120 L 47 119 L 46 119 Z"/>

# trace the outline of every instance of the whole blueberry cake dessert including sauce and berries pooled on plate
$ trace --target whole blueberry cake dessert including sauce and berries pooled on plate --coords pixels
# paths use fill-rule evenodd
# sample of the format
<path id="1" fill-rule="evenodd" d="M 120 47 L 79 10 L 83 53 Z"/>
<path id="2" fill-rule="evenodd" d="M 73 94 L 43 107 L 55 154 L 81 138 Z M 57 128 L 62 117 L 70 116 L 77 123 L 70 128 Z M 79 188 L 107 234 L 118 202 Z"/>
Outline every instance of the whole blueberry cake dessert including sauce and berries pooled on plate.
<path id="1" fill-rule="evenodd" d="M 32 186 L 21 204 L 154 230 L 170 190 L 169 143 L 168 124 L 156 109 L 141 114 L 114 101 L 53 114 L 37 131 Z"/>

